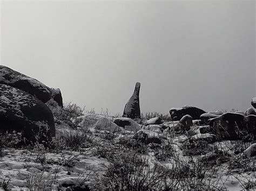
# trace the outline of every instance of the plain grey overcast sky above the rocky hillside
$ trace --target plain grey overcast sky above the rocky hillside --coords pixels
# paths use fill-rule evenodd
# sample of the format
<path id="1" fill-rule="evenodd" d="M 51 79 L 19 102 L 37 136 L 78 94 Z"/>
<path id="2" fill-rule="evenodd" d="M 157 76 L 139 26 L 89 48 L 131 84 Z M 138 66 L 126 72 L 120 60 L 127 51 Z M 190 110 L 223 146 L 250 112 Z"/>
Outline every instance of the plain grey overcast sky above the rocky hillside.
<path id="1" fill-rule="evenodd" d="M 255 1 L 1 1 L 1 64 L 112 115 L 137 81 L 142 112 L 245 110 Z"/>

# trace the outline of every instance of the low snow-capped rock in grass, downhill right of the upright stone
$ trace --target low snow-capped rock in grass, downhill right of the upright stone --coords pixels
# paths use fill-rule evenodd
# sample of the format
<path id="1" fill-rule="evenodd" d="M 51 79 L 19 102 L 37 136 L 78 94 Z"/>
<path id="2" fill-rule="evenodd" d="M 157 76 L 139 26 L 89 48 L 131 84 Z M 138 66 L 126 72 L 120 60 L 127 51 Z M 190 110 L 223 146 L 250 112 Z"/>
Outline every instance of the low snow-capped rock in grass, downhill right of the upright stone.
<path id="1" fill-rule="evenodd" d="M 159 134 L 157 132 L 153 132 L 150 130 L 145 130 L 145 129 L 139 130 L 137 133 L 135 133 L 133 138 L 140 140 L 145 144 L 150 144 L 150 143 L 161 144 L 161 139 L 159 137 Z"/>

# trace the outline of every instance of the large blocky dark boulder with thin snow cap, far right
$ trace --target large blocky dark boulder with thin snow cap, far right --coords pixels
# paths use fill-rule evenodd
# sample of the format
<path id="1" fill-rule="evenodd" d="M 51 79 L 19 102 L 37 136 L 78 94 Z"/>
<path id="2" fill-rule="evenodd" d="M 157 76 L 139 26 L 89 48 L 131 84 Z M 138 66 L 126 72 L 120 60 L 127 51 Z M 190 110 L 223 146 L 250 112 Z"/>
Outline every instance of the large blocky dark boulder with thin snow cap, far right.
<path id="1" fill-rule="evenodd" d="M 209 119 L 214 134 L 224 139 L 242 139 L 248 135 L 247 119 L 244 115 L 227 112 Z"/>

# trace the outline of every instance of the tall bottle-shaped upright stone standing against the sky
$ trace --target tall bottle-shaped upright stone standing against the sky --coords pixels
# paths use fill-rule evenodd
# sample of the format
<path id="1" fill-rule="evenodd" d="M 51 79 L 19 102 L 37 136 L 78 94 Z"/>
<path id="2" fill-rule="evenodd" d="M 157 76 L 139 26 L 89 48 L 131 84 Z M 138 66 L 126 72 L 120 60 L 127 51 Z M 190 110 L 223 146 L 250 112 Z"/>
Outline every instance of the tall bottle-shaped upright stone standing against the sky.
<path id="1" fill-rule="evenodd" d="M 128 117 L 131 119 L 140 118 L 139 90 L 140 83 L 137 82 L 131 98 L 125 104 L 123 117 Z"/>

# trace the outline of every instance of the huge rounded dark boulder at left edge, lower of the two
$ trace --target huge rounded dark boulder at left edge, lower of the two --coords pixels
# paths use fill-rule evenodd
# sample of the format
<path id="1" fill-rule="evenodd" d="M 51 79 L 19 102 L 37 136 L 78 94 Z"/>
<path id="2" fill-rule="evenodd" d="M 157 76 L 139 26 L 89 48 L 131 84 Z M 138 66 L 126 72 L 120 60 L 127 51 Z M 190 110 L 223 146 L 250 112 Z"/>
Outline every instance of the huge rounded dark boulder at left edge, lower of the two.
<path id="1" fill-rule="evenodd" d="M 0 84 L 0 131 L 22 132 L 31 142 L 49 142 L 55 137 L 55 123 L 51 110 L 42 101 Z"/>

